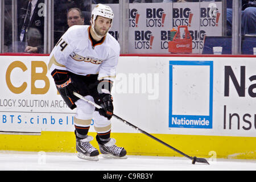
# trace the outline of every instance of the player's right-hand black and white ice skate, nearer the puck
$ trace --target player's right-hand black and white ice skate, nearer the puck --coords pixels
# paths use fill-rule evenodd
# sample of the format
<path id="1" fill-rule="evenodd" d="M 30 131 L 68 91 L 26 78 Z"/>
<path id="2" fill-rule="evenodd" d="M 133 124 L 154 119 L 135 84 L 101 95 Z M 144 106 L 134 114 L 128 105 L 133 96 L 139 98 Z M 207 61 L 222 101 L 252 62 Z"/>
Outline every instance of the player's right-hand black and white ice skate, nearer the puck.
<path id="1" fill-rule="evenodd" d="M 110 138 L 109 142 L 105 144 L 101 144 L 98 141 L 102 156 L 104 158 L 127 159 L 125 148 L 116 146 L 115 142 L 114 138 Z"/>

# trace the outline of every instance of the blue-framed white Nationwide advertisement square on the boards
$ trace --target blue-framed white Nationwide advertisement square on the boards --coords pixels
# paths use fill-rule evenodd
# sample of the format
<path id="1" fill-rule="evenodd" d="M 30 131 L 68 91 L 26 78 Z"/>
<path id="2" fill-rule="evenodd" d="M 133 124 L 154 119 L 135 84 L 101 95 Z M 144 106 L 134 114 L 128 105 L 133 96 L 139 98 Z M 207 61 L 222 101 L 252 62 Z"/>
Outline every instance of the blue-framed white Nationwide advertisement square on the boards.
<path id="1" fill-rule="evenodd" d="M 170 61 L 169 127 L 212 129 L 213 61 Z"/>

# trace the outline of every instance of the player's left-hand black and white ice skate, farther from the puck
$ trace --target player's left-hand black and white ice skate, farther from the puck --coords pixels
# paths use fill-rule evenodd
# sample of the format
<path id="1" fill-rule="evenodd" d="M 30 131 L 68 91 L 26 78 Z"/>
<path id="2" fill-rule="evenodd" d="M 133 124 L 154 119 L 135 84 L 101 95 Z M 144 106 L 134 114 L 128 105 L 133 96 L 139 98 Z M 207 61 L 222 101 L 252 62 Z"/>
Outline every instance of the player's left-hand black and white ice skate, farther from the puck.
<path id="1" fill-rule="evenodd" d="M 90 141 L 92 140 L 92 136 L 87 136 L 84 139 L 76 137 L 77 157 L 86 160 L 98 160 L 99 152 L 97 148 L 94 148 L 92 144 L 90 144 Z"/>

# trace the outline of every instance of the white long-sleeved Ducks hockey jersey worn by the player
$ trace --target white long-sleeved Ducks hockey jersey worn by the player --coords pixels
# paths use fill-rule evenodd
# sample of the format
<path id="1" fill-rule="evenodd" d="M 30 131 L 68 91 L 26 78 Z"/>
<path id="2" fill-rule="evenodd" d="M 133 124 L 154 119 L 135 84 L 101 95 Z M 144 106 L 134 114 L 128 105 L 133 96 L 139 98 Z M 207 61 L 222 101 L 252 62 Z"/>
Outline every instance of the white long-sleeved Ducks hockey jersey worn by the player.
<path id="1" fill-rule="evenodd" d="M 100 44 L 92 46 L 90 26 L 70 27 L 53 48 L 48 69 L 67 70 L 77 75 L 98 74 L 98 80 L 112 80 L 116 74 L 120 46 L 109 33 Z"/>

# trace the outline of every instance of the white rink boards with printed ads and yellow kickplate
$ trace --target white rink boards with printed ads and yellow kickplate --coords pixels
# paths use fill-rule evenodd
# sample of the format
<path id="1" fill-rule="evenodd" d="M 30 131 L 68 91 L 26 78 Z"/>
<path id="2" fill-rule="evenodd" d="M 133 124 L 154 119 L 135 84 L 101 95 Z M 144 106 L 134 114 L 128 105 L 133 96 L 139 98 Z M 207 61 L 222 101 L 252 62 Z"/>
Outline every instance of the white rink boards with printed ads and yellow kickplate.
<path id="1" fill-rule="evenodd" d="M 57 94 L 48 57 L 1 60 L 0 150 L 75 152 L 76 110 Z M 255 159 L 255 68 L 255 56 L 122 55 L 114 112 L 185 154 Z M 130 155 L 180 156 L 115 118 L 112 137 Z"/>

